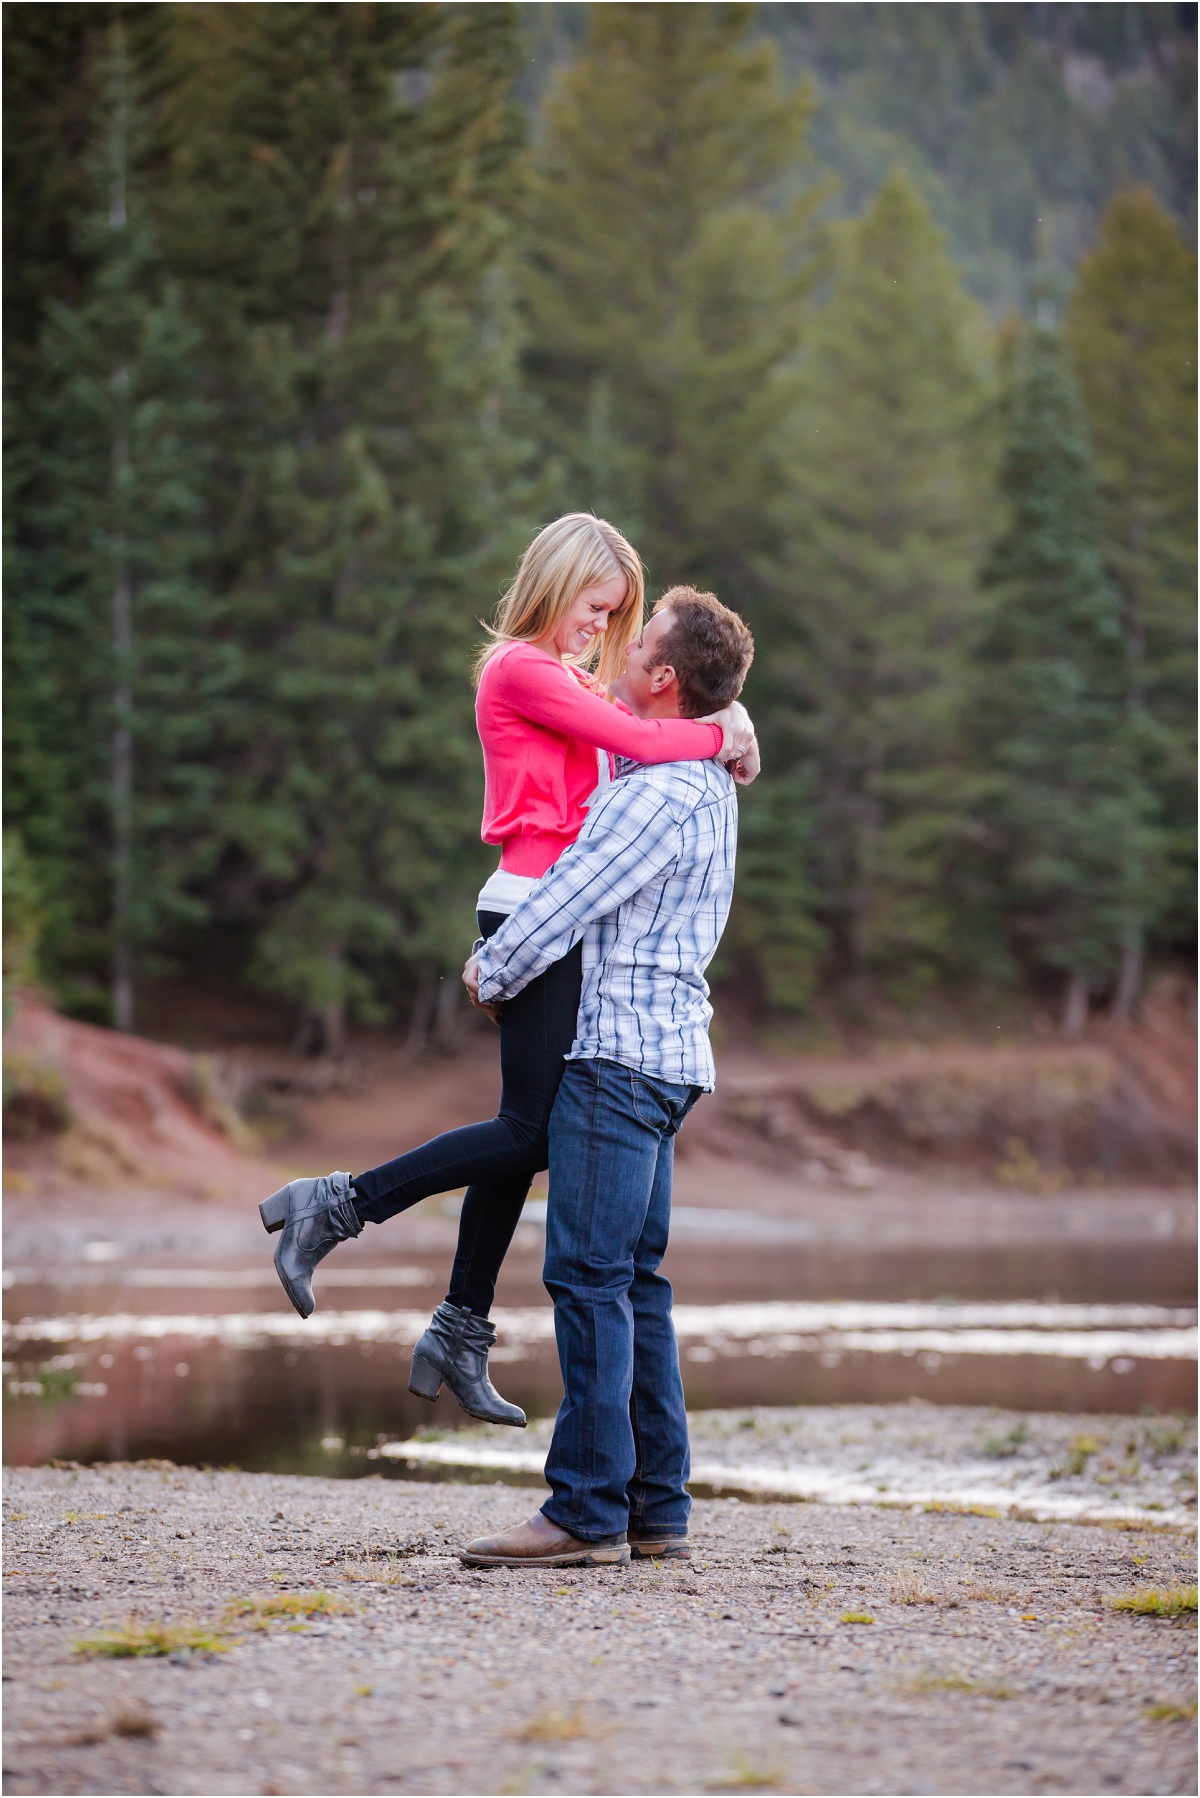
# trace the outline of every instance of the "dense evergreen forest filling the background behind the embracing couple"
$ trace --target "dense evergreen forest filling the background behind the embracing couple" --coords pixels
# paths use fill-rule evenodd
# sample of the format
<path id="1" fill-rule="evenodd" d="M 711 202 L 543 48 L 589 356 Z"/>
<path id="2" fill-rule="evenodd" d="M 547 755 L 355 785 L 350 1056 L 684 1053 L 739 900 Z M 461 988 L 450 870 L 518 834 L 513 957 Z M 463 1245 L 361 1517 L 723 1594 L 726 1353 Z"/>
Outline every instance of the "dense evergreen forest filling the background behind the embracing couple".
<path id="1" fill-rule="evenodd" d="M 756 633 L 730 1007 L 1133 1016 L 1195 949 L 1195 49 L 5 7 L 11 976 L 448 1030 L 480 620 L 588 509 Z"/>

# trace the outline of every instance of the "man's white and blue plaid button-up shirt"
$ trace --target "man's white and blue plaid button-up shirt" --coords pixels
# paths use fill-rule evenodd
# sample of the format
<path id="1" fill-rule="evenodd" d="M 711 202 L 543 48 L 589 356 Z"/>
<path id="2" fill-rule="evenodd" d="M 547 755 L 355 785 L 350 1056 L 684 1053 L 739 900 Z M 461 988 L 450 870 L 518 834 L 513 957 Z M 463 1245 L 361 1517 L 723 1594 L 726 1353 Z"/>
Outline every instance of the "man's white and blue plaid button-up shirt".
<path id="1" fill-rule="evenodd" d="M 513 998 L 583 937 L 567 1059 L 712 1091 L 703 971 L 729 917 L 736 847 L 738 800 L 720 762 L 628 766 L 480 948 L 480 1000 Z"/>

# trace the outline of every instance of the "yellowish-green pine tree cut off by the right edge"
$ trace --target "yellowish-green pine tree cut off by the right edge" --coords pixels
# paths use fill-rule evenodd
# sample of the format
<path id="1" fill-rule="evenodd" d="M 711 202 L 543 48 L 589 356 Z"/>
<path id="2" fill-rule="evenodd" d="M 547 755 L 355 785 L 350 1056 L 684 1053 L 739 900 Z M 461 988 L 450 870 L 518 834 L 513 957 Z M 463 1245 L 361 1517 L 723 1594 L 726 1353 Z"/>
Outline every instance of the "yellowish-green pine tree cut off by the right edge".
<path id="1" fill-rule="evenodd" d="M 1196 257 L 1155 198 L 1119 192 L 1083 259 L 1067 342 L 1088 414 L 1130 707 L 1169 841 L 1159 931 L 1195 931 Z M 1126 949 L 1126 1012 L 1141 942 Z"/>

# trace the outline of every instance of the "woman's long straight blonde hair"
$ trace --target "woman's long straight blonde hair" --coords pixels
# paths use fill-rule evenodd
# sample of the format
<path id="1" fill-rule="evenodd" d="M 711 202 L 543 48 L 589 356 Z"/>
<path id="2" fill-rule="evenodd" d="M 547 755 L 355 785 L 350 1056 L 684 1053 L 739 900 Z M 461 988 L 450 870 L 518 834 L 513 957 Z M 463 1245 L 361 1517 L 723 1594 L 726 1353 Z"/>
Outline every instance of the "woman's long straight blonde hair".
<path id="1" fill-rule="evenodd" d="M 585 586 L 599 586 L 617 574 L 624 575 L 624 599 L 608 615 L 608 629 L 592 638 L 587 654 L 572 658 L 583 667 L 596 665 L 604 685 L 613 681 L 642 628 L 646 577 L 637 550 L 615 525 L 592 512 L 567 512 L 533 539 L 497 608 L 497 622 L 488 626 L 491 642 L 479 653 L 475 680 L 504 644 L 533 644 L 549 636 Z"/>

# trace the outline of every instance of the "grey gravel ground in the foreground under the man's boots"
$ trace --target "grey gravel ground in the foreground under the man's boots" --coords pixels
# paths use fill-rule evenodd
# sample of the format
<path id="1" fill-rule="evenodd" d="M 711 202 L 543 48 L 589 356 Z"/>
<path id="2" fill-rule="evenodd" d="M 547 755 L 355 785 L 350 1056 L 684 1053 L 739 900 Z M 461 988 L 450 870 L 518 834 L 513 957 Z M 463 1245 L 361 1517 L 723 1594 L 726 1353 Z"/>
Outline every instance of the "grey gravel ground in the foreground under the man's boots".
<path id="1" fill-rule="evenodd" d="M 1195 1791 L 1195 1618 L 1105 1604 L 1191 1584 L 1178 1530 L 723 1500 L 691 1566 L 468 1573 L 534 1492 L 144 1464 L 7 1494 L 11 1793 Z M 223 1624 L 315 1591 L 347 1609 Z M 130 1618 L 230 1645 L 74 1652 Z"/>

